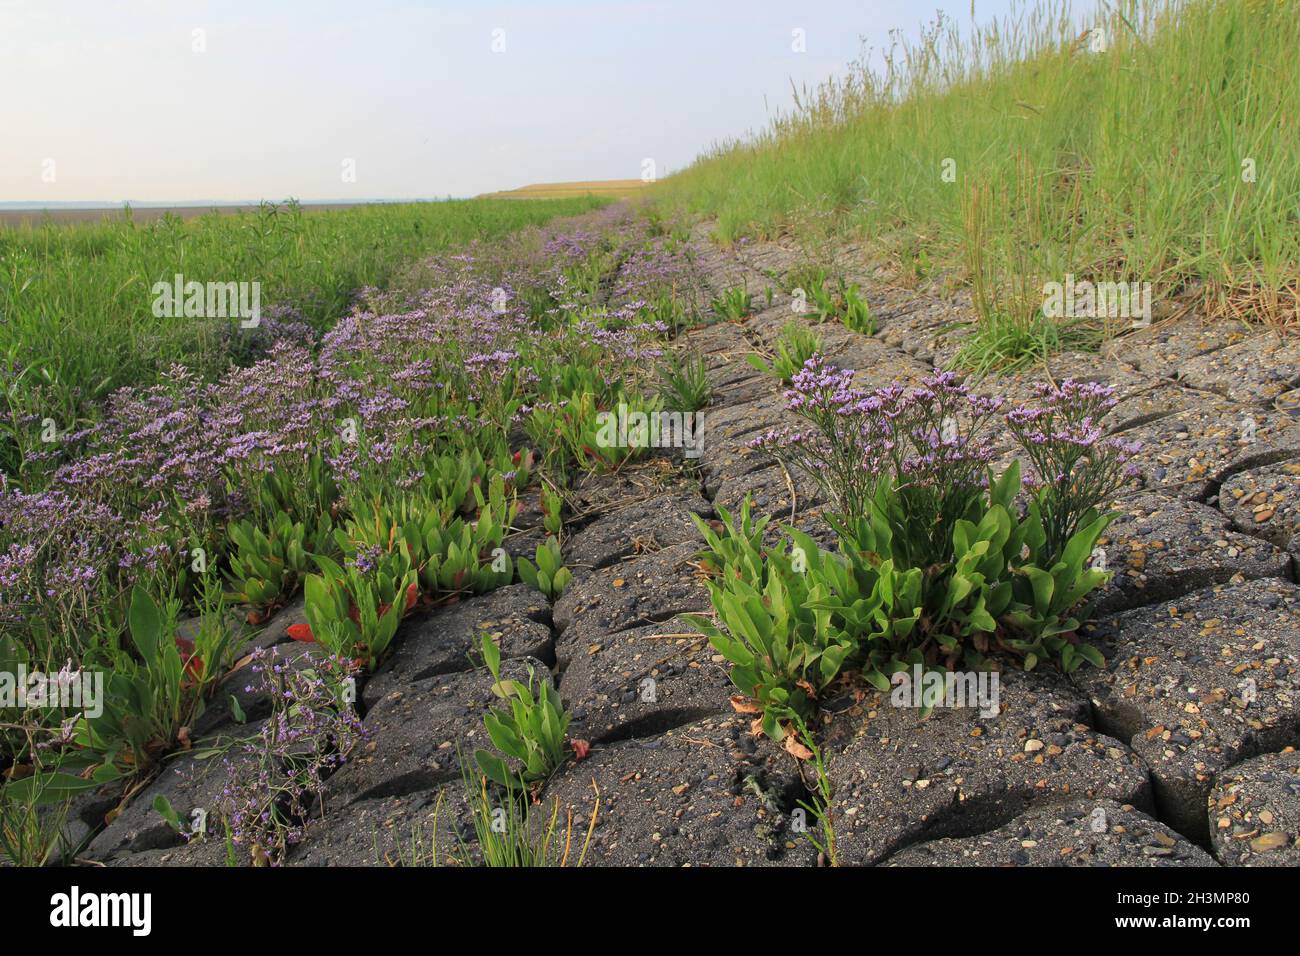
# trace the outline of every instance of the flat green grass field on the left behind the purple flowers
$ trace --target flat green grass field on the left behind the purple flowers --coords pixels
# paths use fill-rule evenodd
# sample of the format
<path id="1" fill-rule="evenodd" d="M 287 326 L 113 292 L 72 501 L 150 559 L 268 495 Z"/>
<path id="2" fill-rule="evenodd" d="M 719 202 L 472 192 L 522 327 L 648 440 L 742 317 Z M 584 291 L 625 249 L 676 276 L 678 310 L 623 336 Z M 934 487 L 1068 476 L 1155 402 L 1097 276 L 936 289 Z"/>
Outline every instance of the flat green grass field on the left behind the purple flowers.
<path id="1" fill-rule="evenodd" d="M 155 282 L 260 282 L 264 312 L 287 306 L 325 326 L 358 289 L 384 287 L 419 256 L 604 202 L 268 203 L 185 221 L 0 226 L 0 467 L 17 467 L 16 431 L 32 415 L 73 428 L 112 390 L 153 384 L 173 363 L 202 375 L 229 364 L 221 323 L 153 316 Z"/>

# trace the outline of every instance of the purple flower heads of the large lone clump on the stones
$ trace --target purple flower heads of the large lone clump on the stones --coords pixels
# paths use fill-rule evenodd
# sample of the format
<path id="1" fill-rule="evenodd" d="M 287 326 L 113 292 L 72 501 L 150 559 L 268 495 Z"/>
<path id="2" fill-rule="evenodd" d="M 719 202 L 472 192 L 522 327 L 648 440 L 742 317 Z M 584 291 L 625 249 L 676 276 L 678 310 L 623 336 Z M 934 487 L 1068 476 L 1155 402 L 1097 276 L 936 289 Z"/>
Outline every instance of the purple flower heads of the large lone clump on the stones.
<path id="1" fill-rule="evenodd" d="M 971 516 L 997 457 L 998 423 L 1028 459 L 1027 484 L 1037 492 L 1052 554 L 1119 488 L 1138 451 L 1105 436 L 1101 416 L 1115 399 L 1092 382 L 1043 385 L 1034 403 L 1018 407 L 971 393 L 952 372 L 936 371 L 911 388 L 853 382 L 852 371 L 814 355 L 785 392 L 788 408 L 811 428 L 768 432 L 751 446 L 807 473 L 849 522 L 887 490 L 904 537 L 922 542 L 916 564 L 941 559 L 956 522 Z"/>

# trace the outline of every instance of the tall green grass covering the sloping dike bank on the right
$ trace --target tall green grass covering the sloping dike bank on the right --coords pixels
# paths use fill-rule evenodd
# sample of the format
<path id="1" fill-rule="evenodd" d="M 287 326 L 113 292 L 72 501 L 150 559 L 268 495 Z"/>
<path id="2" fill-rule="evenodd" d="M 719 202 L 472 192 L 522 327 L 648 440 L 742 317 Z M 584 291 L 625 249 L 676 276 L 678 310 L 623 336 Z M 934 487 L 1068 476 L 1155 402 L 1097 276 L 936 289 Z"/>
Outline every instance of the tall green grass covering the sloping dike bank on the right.
<path id="1" fill-rule="evenodd" d="M 968 286 L 998 349 L 1113 330 L 1046 328 L 1043 284 L 1067 274 L 1295 321 L 1297 51 L 1296 0 L 1087 17 L 1040 0 L 985 27 L 940 20 L 658 193 L 715 216 L 724 242 L 862 234 L 910 278 Z"/>

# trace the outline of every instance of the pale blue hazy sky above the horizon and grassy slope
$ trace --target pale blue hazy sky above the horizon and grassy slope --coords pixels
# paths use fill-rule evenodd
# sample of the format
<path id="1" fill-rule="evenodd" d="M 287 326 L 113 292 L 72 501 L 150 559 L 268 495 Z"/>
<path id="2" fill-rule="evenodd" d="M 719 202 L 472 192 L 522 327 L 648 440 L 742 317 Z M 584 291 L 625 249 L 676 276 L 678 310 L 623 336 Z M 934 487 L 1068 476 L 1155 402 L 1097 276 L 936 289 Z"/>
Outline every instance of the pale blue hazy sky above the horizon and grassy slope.
<path id="1" fill-rule="evenodd" d="M 0 0 L 0 202 L 663 176 L 936 9 L 970 21 L 970 0 Z"/>

